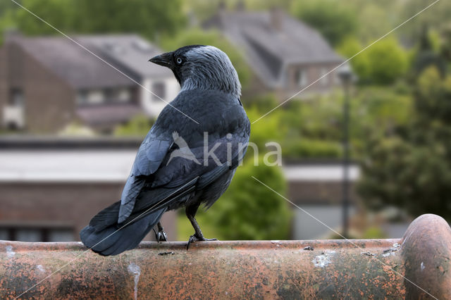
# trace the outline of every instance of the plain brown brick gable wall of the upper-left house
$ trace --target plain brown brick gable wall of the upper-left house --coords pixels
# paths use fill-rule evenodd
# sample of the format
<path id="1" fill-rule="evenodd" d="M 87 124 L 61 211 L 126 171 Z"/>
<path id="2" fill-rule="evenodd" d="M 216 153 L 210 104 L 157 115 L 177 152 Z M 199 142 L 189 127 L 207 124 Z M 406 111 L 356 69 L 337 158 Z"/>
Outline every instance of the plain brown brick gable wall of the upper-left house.
<path id="1" fill-rule="evenodd" d="M 29 132 L 58 132 L 75 118 L 75 91 L 44 68 L 18 44 L 1 49 L 8 62 L 0 64 L 1 111 L 12 88 L 23 90 L 25 127 Z M 6 72 L 6 74 L 5 74 Z"/>

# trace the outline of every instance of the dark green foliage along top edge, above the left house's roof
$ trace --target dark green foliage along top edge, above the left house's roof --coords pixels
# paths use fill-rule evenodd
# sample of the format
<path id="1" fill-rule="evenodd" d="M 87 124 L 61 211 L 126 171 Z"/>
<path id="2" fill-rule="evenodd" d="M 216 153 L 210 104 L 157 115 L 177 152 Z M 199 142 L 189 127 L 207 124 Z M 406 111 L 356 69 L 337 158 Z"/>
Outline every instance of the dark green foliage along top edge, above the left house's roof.
<path id="1" fill-rule="evenodd" d="M 180 0 L 23 0 L 22 5 L 69 33 L 134 32 L 154 39 L 185 23 Z M 15 20 L 28 35 L 57 33 L 23 8 L 17 8 Z"/>

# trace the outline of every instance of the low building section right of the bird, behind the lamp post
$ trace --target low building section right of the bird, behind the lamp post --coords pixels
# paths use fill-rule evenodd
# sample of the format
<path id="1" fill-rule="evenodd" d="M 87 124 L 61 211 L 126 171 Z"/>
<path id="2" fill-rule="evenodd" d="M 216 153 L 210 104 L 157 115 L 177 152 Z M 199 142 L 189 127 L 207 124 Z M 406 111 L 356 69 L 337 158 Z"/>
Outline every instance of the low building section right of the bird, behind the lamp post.
<path id="1" fill-rule="evenodd" d="M 341 161 L 304 161 L 285 163 L 283 168 L 288 181 L 288 199 L 307 213 L 292 206 L 292 239 L 330 238 L 330 228 L 341 232 L 342 182 Z M 350 218 L 362 212 L 355 183 L 359 179 L 359 165 L 350 165 Z M 328 227 L 321 224 L 325 223 Z"/>

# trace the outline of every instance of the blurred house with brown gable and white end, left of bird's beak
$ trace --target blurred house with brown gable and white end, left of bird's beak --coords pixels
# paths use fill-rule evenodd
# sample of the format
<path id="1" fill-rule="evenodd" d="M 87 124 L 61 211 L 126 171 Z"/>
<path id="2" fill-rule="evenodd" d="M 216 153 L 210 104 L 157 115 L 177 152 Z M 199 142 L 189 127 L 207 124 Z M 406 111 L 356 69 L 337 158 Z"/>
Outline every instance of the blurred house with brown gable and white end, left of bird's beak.
<path id="1" fill-rule="evenodd" d="M 0 48 L 1 125 L 57 132 L 70 123 L 82 123 L 110 132 L 138 113 L 158 115 L 164 101 L 178 93 L 170 70 L 147 63 L 161 50 L 141 37 L 81 35 L 73 39 L 76 43 L 61 36 L 6 34 Z"/>

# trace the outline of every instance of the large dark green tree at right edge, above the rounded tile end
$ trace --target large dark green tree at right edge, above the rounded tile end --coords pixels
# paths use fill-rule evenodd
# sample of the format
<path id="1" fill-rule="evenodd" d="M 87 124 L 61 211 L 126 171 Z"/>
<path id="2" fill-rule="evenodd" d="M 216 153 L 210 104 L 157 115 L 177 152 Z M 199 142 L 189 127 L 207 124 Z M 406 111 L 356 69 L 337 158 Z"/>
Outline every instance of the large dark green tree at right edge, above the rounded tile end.
<path id="1" fill-rule="evenodd" d="M 436 213 L 451 220 L 451 76 L 424 70 L 414 91 L 414 113 L 405 130 L 368 144 L 359 192 L 366 204 Z"/>

